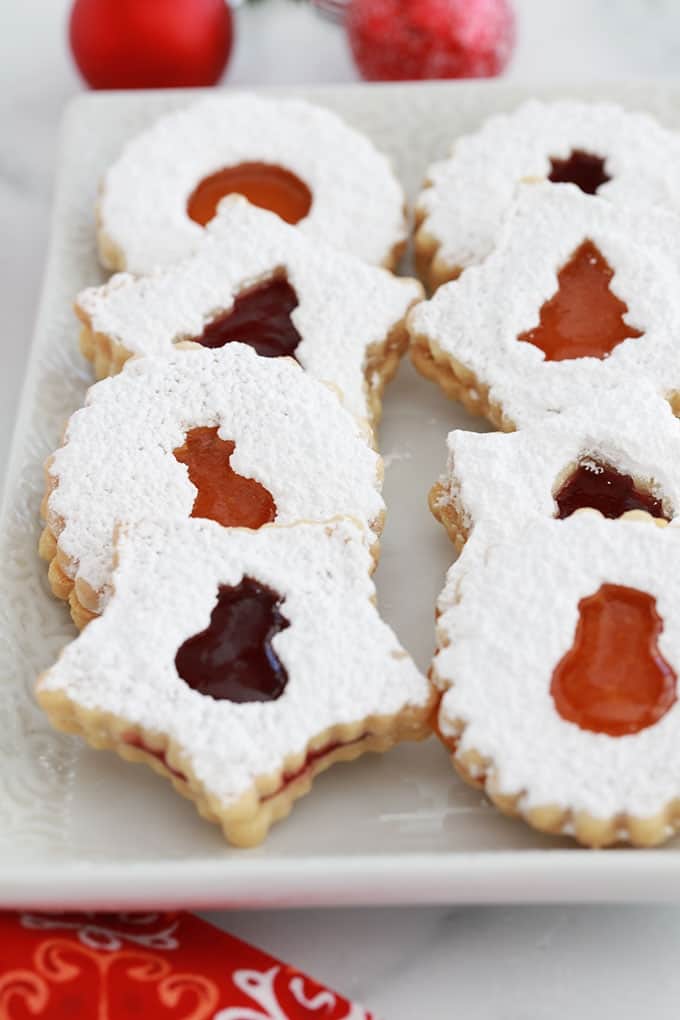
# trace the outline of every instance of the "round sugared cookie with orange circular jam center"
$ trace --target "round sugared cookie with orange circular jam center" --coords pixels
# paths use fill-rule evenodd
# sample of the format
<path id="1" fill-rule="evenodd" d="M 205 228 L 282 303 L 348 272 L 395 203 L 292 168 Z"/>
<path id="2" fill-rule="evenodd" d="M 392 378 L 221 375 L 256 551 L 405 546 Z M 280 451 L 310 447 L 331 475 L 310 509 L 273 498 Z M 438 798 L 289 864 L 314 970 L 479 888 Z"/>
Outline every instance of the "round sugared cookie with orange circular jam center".
<path id="1" fill-rule="evenodd" d="M 405 245 L 404 193 L 367 138 L 310 103 L 222 93 L 161 117 L 108 170 L 102 263 L 149 272 L 182 258 L 234 192 L 367 262 L 391 267 Z"/>

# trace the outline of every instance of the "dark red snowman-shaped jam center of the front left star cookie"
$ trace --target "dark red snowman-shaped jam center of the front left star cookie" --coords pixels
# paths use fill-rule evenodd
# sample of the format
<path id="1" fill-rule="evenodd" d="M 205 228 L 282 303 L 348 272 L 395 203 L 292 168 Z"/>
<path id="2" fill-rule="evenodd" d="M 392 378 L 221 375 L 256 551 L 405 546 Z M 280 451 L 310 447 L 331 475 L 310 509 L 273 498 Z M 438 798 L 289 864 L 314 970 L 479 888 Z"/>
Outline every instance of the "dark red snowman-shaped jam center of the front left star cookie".
<path id="1" fill-rule="evenodd" d="M 186 641 L 175 657 L 182 680 L 216 701 L 280 698 L 289 677 L 271 642 L 290 626 L 281 601 L 252 577 L 234 588 L 220 585 L 209 625 Z"/>

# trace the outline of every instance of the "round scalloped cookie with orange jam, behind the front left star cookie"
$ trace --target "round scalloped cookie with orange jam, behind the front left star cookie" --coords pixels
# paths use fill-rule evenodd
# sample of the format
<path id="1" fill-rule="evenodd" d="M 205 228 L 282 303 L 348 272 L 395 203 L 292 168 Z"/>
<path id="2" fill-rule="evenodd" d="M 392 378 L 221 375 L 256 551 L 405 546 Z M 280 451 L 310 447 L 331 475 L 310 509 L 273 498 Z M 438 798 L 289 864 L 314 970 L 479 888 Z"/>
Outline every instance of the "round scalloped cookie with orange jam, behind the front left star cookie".
<path id="1" fill-rule="evenodd" d="M 289 358 L 243 344 L 135 358 L 90 390 L 48 461 L 41 554 L 82 626 L 108 597 L 116 523 L 346 514 L 376 552 L 381 475 L 356 419 Z"/>

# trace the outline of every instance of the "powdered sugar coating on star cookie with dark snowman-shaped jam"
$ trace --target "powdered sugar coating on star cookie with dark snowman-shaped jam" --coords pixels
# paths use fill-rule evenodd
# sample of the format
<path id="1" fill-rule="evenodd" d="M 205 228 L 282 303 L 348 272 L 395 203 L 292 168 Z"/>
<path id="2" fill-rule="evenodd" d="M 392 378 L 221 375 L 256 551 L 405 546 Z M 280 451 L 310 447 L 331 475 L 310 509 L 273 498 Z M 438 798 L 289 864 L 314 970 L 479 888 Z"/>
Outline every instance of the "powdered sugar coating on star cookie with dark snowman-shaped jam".
<path id="1" fill-rule="evenodd" d="M 370 556 L 351 521 L 225 529 L 212 521 L 142 522 L 117 544 L 105 614 L 39 684 L 87 710 L 166 735 L 224 806 L 276 774 L 335 725 L 424 709 L 425 677 L 371 602 Z M 272 648 L 289 681 L 273 702 L 234 704 L 192 690 L 177 649 L 204 630 L 220 584 L 254 577 L 283 599 L 290 626 Z"/>

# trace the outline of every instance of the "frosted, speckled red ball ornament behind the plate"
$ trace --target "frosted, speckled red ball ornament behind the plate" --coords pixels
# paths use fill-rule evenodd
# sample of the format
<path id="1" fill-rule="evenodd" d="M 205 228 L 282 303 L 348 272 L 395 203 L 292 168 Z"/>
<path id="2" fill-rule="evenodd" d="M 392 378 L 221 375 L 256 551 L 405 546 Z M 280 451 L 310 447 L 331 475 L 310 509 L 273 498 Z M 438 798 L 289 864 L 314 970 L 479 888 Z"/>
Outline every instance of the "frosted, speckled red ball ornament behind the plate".
<path id="1" fill-rule="evenodd" d="M 515 43 L 509 0 L 351 0 L 347 30 L 373 82 L 492 78 Z"/>

